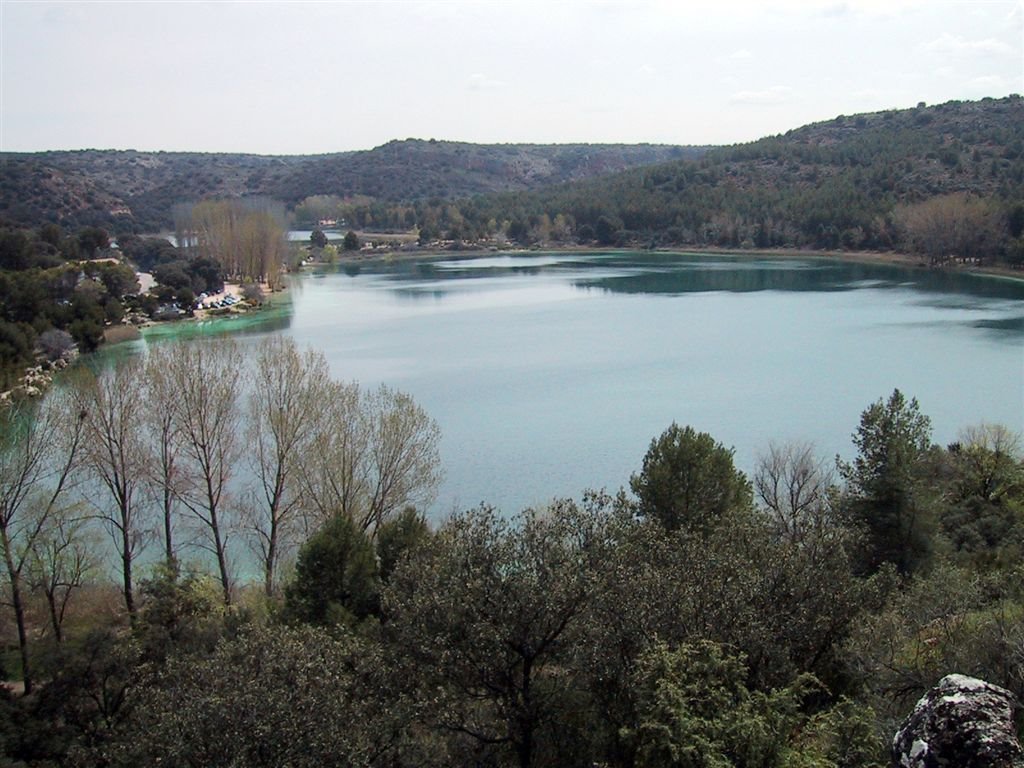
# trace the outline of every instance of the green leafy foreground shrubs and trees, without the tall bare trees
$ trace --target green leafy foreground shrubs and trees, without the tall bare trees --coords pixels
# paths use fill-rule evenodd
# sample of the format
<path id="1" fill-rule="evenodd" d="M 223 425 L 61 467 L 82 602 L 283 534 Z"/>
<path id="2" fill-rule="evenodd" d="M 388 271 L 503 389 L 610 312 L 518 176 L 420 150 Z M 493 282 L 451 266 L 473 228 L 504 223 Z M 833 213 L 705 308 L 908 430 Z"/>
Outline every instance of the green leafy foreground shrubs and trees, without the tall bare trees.
<path id="1" fill-rule="evenodd" d="M 316 401 L 346 392 L 357 388 Z M 16 443 L 29 426 L 0 435 Z M 157 566 L 134 621 L 72 632 L 52 657 L 37 647 L 38 690 L 0 695 L 0 754 L 40 766 L 882 768 L 895 725 L 941 676 L 1024 694 L 1024 468 L 997 427 L 932 446 L 899 391 L 864 412 L 854 441 L 843 501 L 863 551 L 824 479 L 781 510 L 759 473 L 766 507 L 799 522 L 780 525 L 752 509 L 731 451 L 673 425 L 633 478 L 636 501 L 480 508 L 436 534 L 402 504 L 370 536 L 336 514 L 301 548 L 280 611 L 225 607 L 209 578 Z M 776 459 L 774 476 L 792 469 L 797 483 L 814 469 L 799 452 Z M 928 568 L 900 575 L 880 558 L 856 575 L 893 525 L 867 513 L 900 483 L 949 546 L 936 542 Z"/>

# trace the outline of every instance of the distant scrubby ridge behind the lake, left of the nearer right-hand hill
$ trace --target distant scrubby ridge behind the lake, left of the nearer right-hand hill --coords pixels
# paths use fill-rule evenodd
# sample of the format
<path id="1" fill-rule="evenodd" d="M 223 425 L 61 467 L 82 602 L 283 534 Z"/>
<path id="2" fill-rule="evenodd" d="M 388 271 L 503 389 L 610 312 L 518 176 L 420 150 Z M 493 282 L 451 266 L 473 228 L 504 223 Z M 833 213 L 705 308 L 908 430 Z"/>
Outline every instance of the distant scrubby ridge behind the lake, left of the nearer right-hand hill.
<path id="1" fill-rule="evenodd" d="M 675 158 L 703 147 L 653 144 L 469 144 L 407 139 L 366 152 L 257 156 L 112 150 L 0 155 L 0 217 L 35 225 L 154 231 L 177 203 L 313 195 L 387 202 L 528 190 Z"/>

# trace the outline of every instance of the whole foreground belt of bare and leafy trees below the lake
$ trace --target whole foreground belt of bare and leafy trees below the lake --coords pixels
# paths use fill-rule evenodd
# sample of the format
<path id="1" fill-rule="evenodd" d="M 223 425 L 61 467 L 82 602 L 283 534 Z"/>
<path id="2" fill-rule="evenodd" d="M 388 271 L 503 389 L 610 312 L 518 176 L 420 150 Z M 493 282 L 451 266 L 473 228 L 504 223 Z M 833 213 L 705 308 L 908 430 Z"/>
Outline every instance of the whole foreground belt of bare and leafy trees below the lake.
<path id="1" fill-rule="evenodd" d="M 436 425 L 318 353 L 81 373 L 0 412 L 11 764 L 884 766 L 943 675 L 1024 693 L 1020 445 L 899 391 L 849 462 L 673 424 L 629 489 L 431 526 Z"/>

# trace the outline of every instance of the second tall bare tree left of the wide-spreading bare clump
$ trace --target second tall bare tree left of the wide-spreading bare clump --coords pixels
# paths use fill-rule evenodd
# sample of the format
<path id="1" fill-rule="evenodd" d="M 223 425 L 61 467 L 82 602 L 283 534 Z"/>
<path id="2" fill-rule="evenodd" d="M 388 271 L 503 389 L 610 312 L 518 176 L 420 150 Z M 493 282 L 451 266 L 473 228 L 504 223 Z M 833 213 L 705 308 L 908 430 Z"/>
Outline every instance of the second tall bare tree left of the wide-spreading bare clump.
<path id="1" fill-rule="evenodd" d="M 228 339 L 170 347 L 166 359 L 172 423 L 194 482 L 181 503 L 199 522 L 201 545 L 217 560 L 224 602 L 231 602 L 227 563 L 228 481 L 240 456 L 239 380 L 242 355 Z"/>

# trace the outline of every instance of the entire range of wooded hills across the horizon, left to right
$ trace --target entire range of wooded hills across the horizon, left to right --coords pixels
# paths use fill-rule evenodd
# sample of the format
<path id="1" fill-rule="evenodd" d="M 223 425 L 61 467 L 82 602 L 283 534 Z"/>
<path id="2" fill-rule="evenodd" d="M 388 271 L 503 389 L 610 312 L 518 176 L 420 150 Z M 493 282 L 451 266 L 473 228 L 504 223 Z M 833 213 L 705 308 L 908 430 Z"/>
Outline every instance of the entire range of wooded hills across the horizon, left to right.
<path id="1" fill-rule="evenodd" d="M 421 243 L 900 249 L 1024 262 L 1024 100 L 840 116 L 749 144 L 477 145 L 407 139 L 303 157 L 2 157 L 0 216 L 169 227 L 203 199 L 280 201 L 303 225 Z"/>

